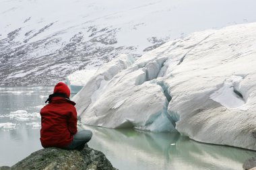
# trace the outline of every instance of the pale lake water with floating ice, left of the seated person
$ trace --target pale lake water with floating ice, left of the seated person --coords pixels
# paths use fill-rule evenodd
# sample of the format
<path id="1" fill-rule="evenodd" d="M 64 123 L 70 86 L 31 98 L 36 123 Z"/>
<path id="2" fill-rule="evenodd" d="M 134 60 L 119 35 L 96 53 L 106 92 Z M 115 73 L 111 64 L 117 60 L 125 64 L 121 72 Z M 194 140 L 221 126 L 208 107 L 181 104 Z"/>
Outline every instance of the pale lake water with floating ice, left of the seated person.
<path id="1" fill-rule="evenodd" d="M 0 87 L 0 166 L 14 165 L 40 144 L 38 112 L 53 87 Z"/>

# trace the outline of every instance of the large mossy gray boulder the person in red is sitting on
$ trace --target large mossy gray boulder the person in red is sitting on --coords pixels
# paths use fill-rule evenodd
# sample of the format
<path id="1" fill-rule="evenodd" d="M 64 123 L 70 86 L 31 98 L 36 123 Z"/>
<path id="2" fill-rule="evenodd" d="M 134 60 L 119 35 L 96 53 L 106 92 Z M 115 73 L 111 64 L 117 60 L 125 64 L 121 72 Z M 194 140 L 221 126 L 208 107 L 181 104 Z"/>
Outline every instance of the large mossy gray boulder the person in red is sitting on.
<path id="1" fill-rule="evenodd" d="M 90 170 L 117 170 L 105 155 L 88 146 L 82 151 L 67 151 L 61 148 L 43 148 L 32 153 L 12 167 L 0 167 L 2 169 L 90 169 Z"/>

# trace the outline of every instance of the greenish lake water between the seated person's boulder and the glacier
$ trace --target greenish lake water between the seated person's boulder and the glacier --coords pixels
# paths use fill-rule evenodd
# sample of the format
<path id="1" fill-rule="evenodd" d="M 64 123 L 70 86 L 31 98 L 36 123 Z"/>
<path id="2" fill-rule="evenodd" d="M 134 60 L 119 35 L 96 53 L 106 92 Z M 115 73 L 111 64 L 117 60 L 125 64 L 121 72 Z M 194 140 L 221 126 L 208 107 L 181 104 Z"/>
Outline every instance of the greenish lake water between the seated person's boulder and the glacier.
<path id="1" fill-rule="evenodd" d="M 242 169 L 254 151 L 203 144 L 173 133 L 113 130 L 82 126 L 92 130 L 89 146 L 106 154 L 119 169 Z"/>

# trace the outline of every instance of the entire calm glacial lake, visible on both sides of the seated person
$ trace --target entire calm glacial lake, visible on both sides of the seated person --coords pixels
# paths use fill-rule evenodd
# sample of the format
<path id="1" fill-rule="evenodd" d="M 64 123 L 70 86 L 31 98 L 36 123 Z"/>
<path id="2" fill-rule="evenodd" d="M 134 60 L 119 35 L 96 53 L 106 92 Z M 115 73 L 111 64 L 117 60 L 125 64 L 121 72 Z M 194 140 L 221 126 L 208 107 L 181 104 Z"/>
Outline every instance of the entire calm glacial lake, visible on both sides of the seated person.
<path id="1" fill-rule="evenodd" d="M 53 87 L 0 87 L 0 166 L 14 165 L 40 144 L 40 109 Z M 92 130 L 88 143 L 102 151 L 120 170 L 243 169 L 255 151 L 203 144 L 185 136 L 131 129 L 108 129 L 80 124 Z"/>

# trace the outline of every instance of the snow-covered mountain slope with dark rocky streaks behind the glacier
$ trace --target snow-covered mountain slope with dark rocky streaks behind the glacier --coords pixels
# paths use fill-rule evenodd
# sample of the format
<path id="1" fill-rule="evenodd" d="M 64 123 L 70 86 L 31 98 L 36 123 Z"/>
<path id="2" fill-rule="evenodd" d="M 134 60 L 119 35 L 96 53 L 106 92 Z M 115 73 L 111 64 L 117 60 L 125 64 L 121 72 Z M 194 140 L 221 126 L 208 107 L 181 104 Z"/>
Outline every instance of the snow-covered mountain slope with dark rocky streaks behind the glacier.
<path id="1" fill-rule="evenodd" d="M 3 0 L 0 85 L 54 85 L 117 54 L 140 56 L 189 32 L 256 22 L 254 6 L 250 0 Z"/>

